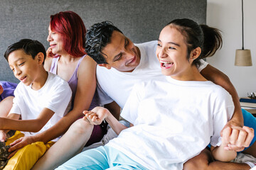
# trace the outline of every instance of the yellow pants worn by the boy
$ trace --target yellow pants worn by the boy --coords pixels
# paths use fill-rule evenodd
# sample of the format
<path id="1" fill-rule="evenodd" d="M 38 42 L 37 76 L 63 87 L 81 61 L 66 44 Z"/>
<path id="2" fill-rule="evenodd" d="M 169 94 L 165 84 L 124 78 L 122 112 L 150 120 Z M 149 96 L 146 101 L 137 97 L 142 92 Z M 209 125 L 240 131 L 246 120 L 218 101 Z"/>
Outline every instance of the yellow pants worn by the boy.
<path id="1" fill-rule="evenodd" d="M 23 137 L 24 134 L 16 131 L 15 135 L 10 137 L 6 145 L 9 145 L 11 142 L 14 142 L 15 140 L 18 140 L 18 138 Z M 31 145 L 26 145 L 26 147 L 23 147 L 22 149 L 19 149 L 16 154 L 14 154 L 14 157 L 11 157 L 9 159 L 9 162 L 4 167 L 4 170 L 26 170 L 31 169 L 34 164 L 40 159 L 43 154 L 51 147 L 53 146 L 55 142 L 48 142 L 47 144 L 44 144 L 43 142 L 35 142 Z"/>

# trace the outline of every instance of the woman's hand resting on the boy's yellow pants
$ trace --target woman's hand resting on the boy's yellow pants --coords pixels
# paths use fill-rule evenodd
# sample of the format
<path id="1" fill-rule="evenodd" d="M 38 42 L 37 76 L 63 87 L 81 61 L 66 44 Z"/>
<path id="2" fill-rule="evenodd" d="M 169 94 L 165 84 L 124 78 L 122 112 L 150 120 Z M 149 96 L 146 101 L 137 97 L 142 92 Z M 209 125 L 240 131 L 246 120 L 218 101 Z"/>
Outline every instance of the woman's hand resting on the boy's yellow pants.
<path id="1" fill-rule="evenodd" d="M 8 152 L 11 152 L 8 159 L 13 157 L 14 154 L 16 154 L 16 152 L 18 152 L 18 149 L 21 149 L 21 148 L 25 147 L 26 145 L 33 143 L 33 141 L 34 141 L 33 136 L 28 136 L 28 137 L 21 137 L 18 140 L 15 140 L 14 142 L 12 142 L 10 144 L 11 147 L 8 150 Z"/>

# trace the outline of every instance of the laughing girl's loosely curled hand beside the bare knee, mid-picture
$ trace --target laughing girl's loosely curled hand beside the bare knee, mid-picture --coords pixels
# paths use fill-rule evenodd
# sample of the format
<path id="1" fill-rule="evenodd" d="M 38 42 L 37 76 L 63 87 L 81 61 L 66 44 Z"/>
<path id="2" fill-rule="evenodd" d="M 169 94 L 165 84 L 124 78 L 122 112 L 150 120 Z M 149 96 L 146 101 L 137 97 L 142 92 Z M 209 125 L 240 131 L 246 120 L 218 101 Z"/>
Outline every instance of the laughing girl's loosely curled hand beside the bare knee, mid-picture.
<path id="1" fill-rule="evenodd" d="M 92 111 L 83 111 L 82 113 L 85 114 L 84 119 L 87 119 L 92 125 L 100 125 L 109 111 L 106 108 L 95 107 Z"/>

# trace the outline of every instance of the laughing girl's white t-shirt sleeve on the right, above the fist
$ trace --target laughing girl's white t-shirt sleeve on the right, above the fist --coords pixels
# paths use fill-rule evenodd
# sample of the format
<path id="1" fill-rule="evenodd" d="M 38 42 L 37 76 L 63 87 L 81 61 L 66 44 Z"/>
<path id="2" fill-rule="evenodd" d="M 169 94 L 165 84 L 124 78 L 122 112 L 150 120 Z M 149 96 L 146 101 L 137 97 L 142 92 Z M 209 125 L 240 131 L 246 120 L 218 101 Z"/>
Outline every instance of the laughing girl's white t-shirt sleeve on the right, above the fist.
<path id="1" fill-rule="evenodd" d="M 214 106 L 213 113 L 213 136 L 210 138 L 210 145 L 213 147 L 220 146 L 220 131 L 223 130 L 235 111 L 232 97 L 227 91 L 223 89 L 218 95 L 221 97 L 217 98 L 215 102 L 217 104 Z"/>

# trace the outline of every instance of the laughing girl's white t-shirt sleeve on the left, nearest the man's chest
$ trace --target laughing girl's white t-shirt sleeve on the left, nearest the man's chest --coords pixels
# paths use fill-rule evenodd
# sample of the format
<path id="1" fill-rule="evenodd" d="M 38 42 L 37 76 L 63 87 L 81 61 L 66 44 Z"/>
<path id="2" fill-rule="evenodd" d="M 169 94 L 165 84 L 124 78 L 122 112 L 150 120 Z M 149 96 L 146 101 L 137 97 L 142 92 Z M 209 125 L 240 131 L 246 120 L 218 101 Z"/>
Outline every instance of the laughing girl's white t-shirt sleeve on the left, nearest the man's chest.
<path id="1" fill-rule="evenodd" d="M 129 98 L 122 109 L 121 116 L 129 123 L 134 124 L 138 117 L 139 103 L 142 100 L 143 91 L 144 88 L 142 88 L 142 84 L 134 85 Z"/>

